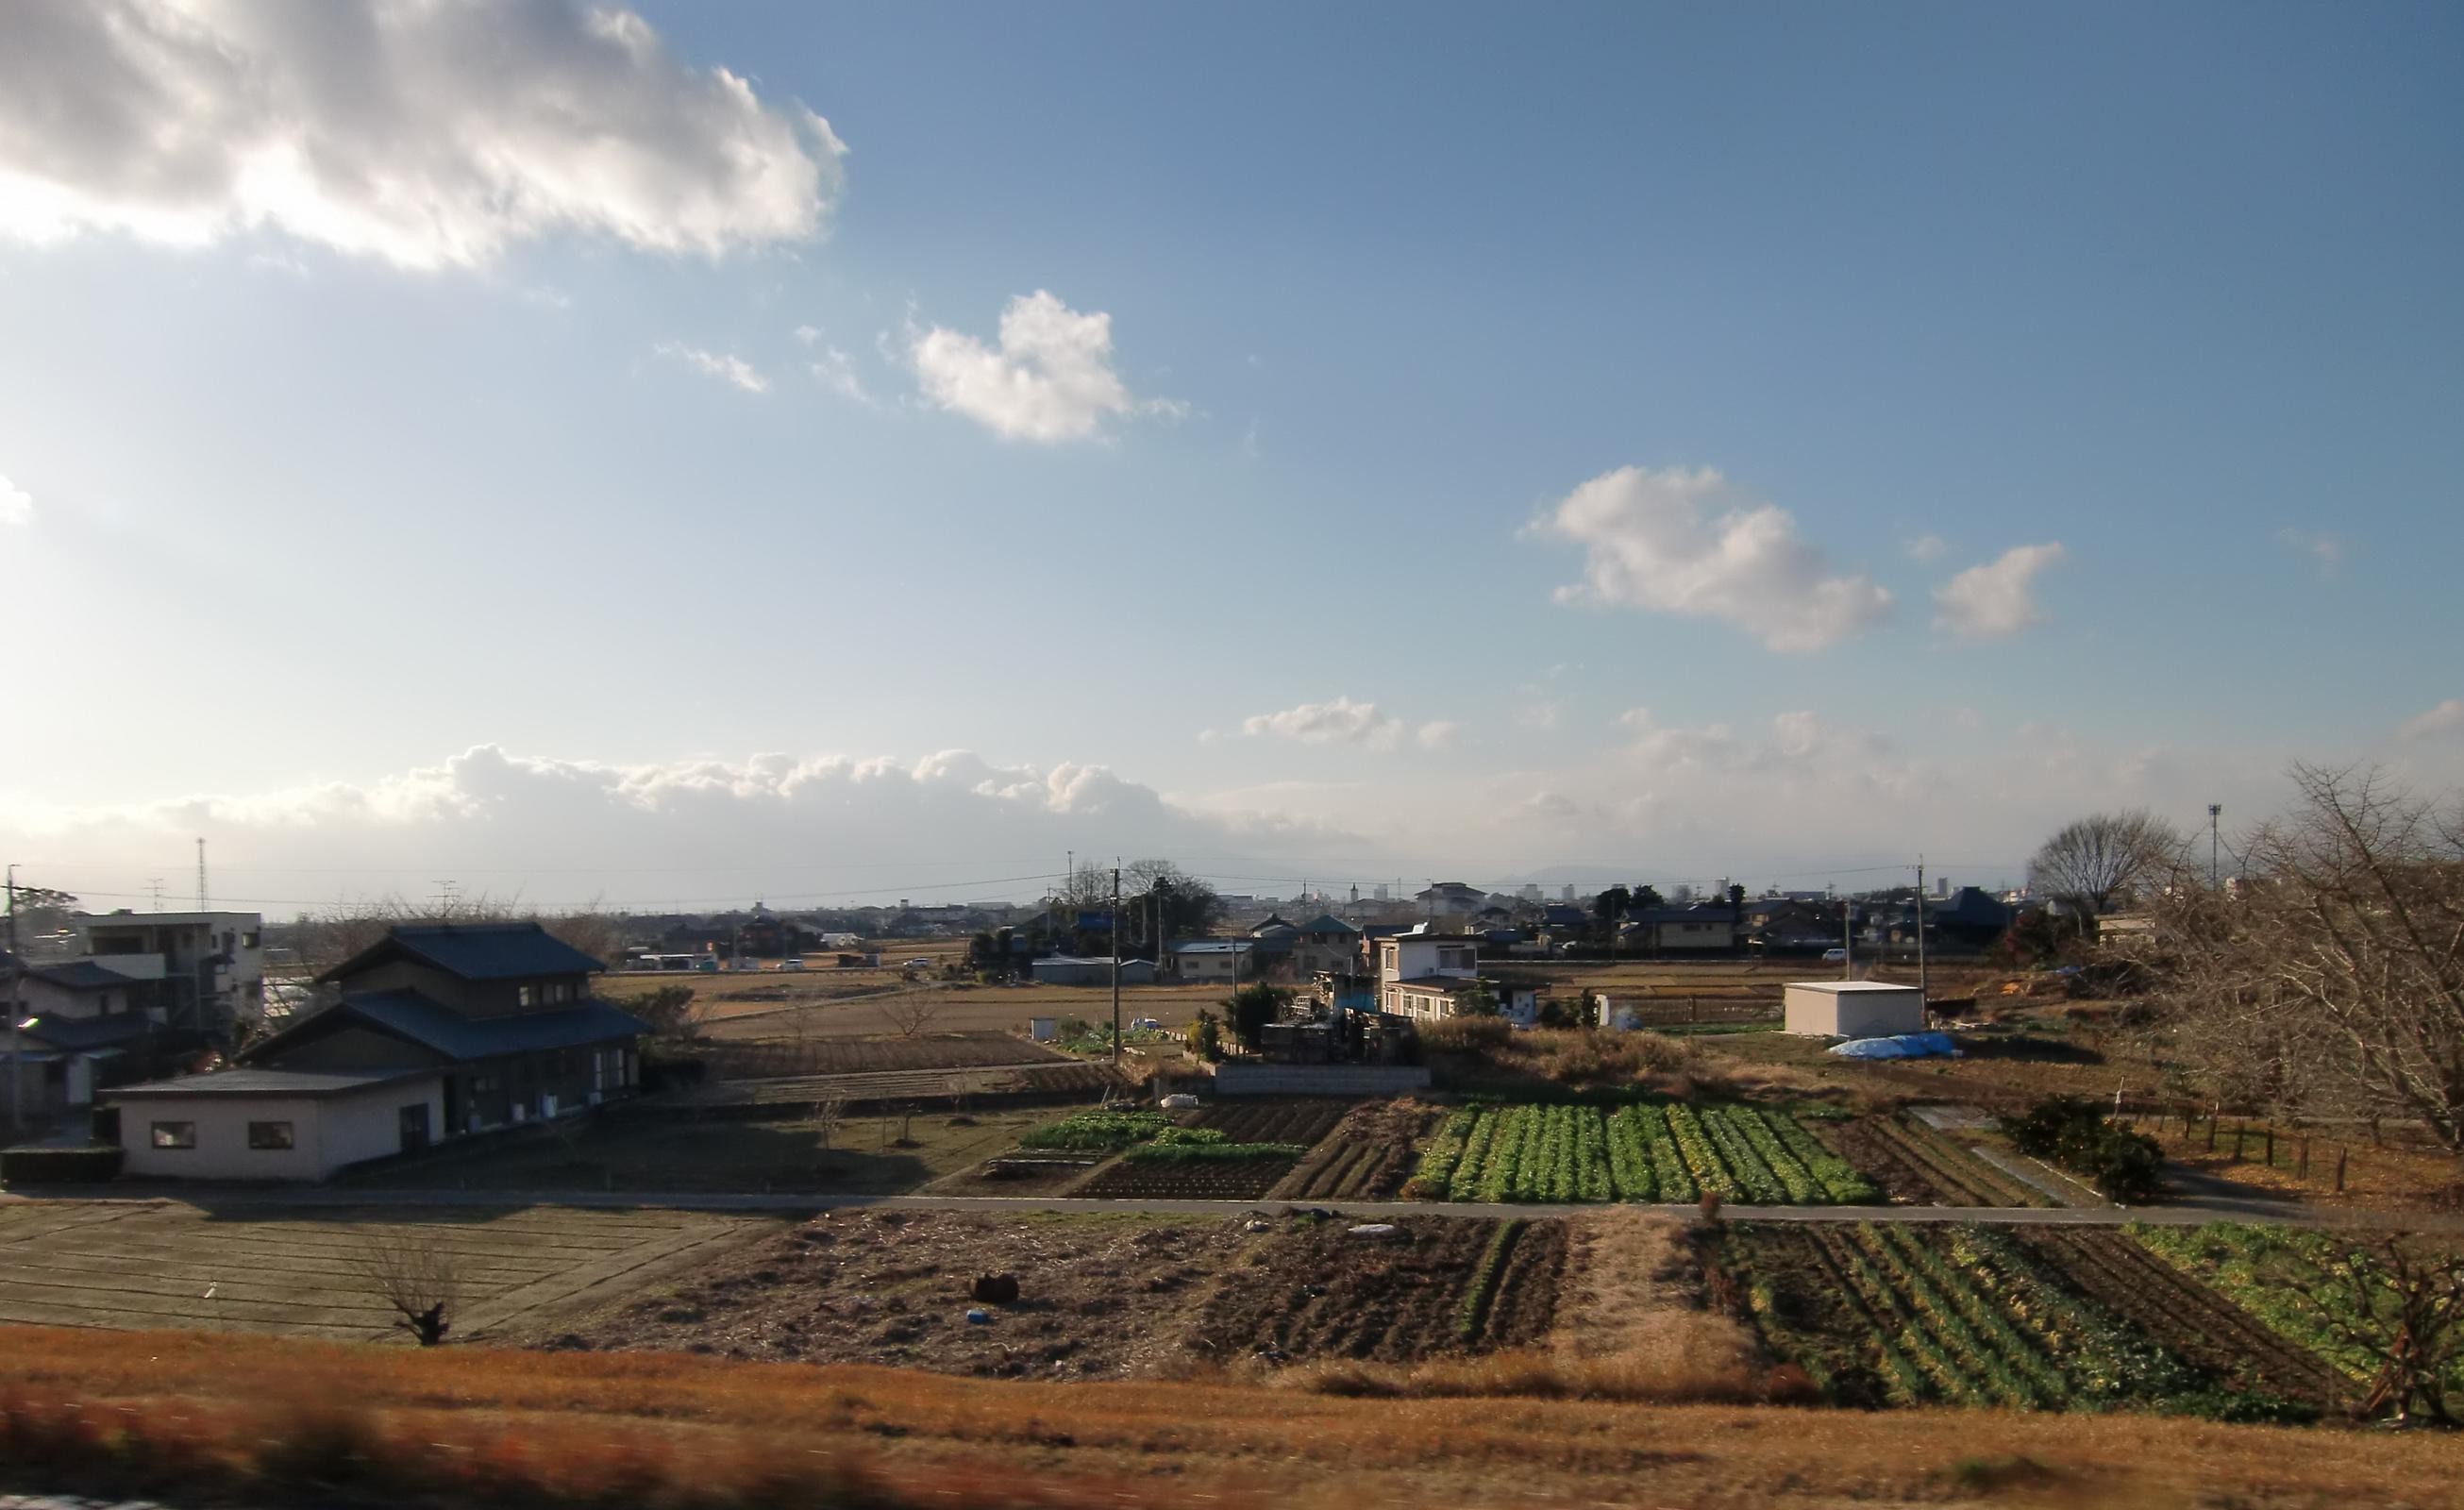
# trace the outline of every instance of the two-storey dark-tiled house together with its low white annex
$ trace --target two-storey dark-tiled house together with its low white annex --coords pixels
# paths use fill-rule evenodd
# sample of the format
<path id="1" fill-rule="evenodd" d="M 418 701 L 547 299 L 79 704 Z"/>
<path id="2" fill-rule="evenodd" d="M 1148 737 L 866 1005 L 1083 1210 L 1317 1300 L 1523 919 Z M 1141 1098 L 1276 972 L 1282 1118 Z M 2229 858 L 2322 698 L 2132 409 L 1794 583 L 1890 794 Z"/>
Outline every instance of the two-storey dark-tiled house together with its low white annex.
<path id="1" fill-rule="evenodd" d="M 128 1173 L 323 1180 L 631 1096 L 650 1027 L 591 998 L 599 971 L 537 924 L 389 929 L 320 975 L 330 1007 L 239 1067 L 108 1091 Z"/>

